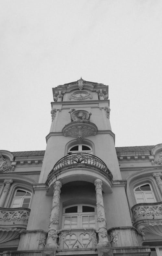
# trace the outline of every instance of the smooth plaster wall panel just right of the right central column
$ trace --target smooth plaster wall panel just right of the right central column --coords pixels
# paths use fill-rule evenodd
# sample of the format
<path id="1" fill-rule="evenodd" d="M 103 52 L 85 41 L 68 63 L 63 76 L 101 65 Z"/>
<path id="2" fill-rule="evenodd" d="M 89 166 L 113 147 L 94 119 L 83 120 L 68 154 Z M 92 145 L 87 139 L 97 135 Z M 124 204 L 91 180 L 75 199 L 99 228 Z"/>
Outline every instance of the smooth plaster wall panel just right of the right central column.
<path id="1" fill-rule="evenodd" d="M 107 228 L 132 226 L 124 187 L 112 187 L 113 192 L 103 194 Z"/>

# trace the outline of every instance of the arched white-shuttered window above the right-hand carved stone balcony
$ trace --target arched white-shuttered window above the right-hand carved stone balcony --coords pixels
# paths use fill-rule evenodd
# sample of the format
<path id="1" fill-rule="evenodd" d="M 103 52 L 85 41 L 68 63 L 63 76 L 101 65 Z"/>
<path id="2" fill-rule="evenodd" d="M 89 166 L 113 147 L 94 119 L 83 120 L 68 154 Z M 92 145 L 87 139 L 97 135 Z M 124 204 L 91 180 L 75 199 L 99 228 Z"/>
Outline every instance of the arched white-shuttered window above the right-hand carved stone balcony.
<path id="1" fill-rule="evenodd" d="M 138 203 L 154 203 L 156 198 L 153 192 L 153 189 L 150 184 L 145 183 L 141 184 L 138 187 L 134 188 L 134 195 L 137 204 Z"/>

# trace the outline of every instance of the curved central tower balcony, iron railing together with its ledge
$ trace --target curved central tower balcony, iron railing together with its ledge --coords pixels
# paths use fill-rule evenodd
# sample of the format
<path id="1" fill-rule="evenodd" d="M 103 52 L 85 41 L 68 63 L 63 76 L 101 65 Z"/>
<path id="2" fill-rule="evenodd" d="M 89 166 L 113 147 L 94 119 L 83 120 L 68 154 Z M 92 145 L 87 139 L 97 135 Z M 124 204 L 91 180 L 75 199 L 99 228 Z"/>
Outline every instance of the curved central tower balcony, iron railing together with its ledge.
<path id="1" fill-rule="evenodd" d="M 46 185 L 49 186 L 52 177 L 58 176 L 65 170 L 86 168 L 96 171 L 98 174 L 104 175 L 108 180 L 112 180 L 113 176 L 106 164 L 97 156 L 87 153 L 74 153 L 61 158 L 49 173 Z"/>

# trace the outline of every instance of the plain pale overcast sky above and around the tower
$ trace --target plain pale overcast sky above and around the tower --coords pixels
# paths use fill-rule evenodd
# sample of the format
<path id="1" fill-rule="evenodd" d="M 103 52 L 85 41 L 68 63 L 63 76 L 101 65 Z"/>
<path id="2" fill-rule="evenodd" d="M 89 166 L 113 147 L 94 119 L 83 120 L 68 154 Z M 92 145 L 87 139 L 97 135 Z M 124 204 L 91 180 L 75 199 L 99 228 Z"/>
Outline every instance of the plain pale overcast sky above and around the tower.
<path id="1" fill-rule="evenodd" d="M 109 85 L 116 147 L 162 143 L 161 0 L 0 1 L 0 149 L 44 150 L 52 87 Z"/>

